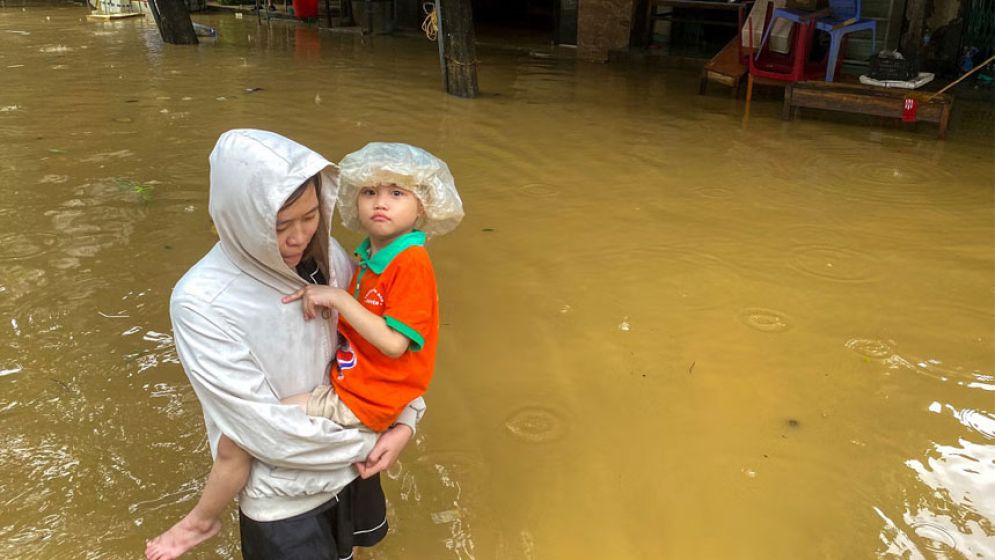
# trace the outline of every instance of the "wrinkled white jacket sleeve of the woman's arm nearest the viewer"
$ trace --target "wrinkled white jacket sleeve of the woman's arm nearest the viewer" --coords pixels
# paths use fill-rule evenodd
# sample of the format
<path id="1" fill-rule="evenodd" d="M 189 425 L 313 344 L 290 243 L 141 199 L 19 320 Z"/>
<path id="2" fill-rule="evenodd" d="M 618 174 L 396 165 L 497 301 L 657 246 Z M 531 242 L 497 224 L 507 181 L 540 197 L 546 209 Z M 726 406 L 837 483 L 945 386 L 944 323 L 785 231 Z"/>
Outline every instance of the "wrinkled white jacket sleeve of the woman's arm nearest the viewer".
<path id="1" fill-rule="evenodd" d="M 177 352 L 209 424 L 276 467 L 334 470 L 365 459 L 375 441 L 371 434 L 280 404 L 249 348 L 201 303 L 174 300 L 171 315 Z M 417 410 L 406 414 L 411 422 L 420 416 Z M 216 446 L 212 441 L 212 450 Z"/>

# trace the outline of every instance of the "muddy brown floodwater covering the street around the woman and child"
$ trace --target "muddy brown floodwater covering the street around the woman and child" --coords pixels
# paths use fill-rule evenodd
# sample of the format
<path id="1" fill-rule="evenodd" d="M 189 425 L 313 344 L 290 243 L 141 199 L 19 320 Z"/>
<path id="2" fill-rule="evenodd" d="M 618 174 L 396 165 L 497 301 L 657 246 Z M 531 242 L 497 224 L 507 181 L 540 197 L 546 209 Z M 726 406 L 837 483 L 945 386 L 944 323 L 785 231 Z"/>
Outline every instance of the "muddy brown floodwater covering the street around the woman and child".
<path id="1" fill-rule="evenodd" d="M 744 129 L 694 71 L 487 49 L 465 101 L 423 38 L 85 13 L 0 8 L 0 556 L 137 558 L 194 503 L 167 302 L 257 127 L 424 146 L 466 204 L 368 557 L 995 558 L 990 107 Z M 233 512 L 190 558 L 239 557 Z"/>

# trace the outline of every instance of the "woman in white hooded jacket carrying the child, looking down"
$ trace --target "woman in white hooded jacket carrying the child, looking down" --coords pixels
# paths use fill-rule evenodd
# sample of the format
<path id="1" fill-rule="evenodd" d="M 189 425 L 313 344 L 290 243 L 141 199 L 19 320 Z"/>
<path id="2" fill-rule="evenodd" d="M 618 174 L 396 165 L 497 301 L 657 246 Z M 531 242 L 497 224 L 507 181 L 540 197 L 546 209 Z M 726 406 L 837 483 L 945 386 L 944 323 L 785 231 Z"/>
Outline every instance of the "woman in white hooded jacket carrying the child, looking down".
<path id="1" fill-rule="evenodd" d="M 329 237 L 337 188 L 337 168 L 292 140 L 258 130 L 223 134 L 211 153 L 210 214 L 220 241 L 180 279 L 170 302 L 212 454 L 227 451 L 224 435 L 255 458 L 239 498 L 246 560 L 338 560 L 379 542 L 387 531 L 379 472 L 424 412 L 419 397 L 377 437 L 280 403 L 328 380 L 334 313 L 305 321 L 281 298 L 310 283 L 343 287 L 352 276 Z M 278 216 L 290 227 L 278 232 Z M 217 522 L 183 523 L 150 543 L 147 555 L 175 558 L 220 530 Z"/>

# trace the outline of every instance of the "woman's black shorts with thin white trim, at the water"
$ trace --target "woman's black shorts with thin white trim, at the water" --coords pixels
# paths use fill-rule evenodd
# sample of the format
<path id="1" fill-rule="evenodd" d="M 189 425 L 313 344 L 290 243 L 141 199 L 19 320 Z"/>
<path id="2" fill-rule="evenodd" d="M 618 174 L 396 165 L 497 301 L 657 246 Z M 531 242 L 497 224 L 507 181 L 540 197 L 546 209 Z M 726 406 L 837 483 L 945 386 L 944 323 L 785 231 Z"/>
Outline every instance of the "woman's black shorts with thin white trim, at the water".
<path id="1" fill-rule="evenodd" d="M 345 560 L 354 546 L 387 535 L 387 503 L 380 475 L 357 478 L 339 495 L 289 519 L 254 521 L 238 512 L 245 560 Z"/>

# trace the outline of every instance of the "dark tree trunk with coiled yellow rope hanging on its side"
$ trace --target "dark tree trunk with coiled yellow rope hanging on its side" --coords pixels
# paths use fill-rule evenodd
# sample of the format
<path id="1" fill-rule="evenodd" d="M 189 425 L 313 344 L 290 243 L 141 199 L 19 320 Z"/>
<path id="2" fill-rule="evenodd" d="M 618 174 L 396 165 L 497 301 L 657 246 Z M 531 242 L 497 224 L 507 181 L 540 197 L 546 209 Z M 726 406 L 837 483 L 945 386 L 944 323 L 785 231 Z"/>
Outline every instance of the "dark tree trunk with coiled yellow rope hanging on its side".
<path id="1" fill-rule="evenodd" d="M 446 92 L 477 97 L 477 35 L 470 0 L 441 0 L 442 35 L 446 55 Z"/>

